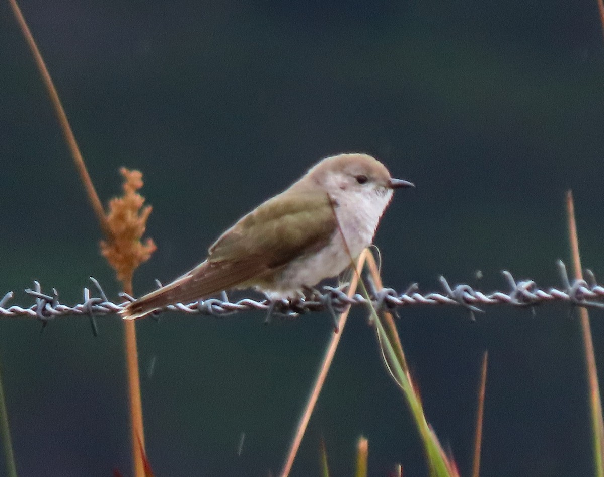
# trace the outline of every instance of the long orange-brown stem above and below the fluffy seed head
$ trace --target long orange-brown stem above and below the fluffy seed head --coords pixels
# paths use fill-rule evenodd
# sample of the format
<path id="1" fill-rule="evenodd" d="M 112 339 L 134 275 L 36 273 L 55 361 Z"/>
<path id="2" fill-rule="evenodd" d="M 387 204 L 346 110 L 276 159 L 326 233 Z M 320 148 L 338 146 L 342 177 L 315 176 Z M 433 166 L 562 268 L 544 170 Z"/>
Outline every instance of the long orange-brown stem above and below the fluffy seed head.
<path id="1" fill-rule="evenodd" d="M 67 146 L 69 147 L 69 151 L 71 152 L 71 156 L 73 158 L 74 164 L 76 165 L 76 169 L 80 174 L 80 180 L 84 185 L 86 190 L 86 194 L 88 195 L 89 202 L 92 206 L 92 210 L 94 211 L 95 216 L 97 216 L 98 224 L 103 232 L 106 240 L 111 242 L 113 240 L 113 234 L 111 229 L 109 228 L 103 205 L 101 204 L 100 199 L 98 198 L 97 192 L 92 184 L 92 180 L 90 175 L 88 174 L 88 170 L 86 169 L 86 164 L 82 157 L 82 153 L 80 153 L 80 148 L 77 145 L 76 137 L 71 130 L 71 126 L 69 125 L 69 121 L 67 119 L 67 115 L 65 114 L 65 109 L 63 108 L 63 104 L 59 98 L 59 94 L 57 89 L 54 86 L 53 79 L 48 72 L 48 68 L 42 58 L 42 54 L 40 54 L 39 49 L 37 48 L 36 41 L 34 40 L 33 35 L 31 34 L 30 28 L 27 26 L 27 22 L 25 22 L 25 18 L 21 13 L 21 9 L 17 4 L 16 0 L 8 0 L 13 10 L 14 16 L 16 18 L 19 27 L 27 41 L 28 46 L 30 47 L 31 54 L 34 57 L 37 68 L 42 76 L 42 81 L 46 86 L 48 95 L 50 97 L 51 102 L 53 103 L 53 107 L 57 118 L 59 119 L 59 124 L 61 130 L 63 132 L 63 136 L 65 136 L 65 141 L 67 142 Z M 129 295 L 132 295 L 132 283 L 123 283 L 123 290 Z M 128 386 L 129 386 L 129 404 L 130 404 L 130 427 L 132 427 L 132 438 L 131 438 L 131 447 L 132 447 L 132 458 L 133 458 L 133 467 L 134 467 L 134 475 L 135 477 L 144 477 L 144 462 L 143 462 L 143 453 L 140 452 L 139 447 L 139 438 L 140 445 L 143 446 L 144 451 L 144 430 L 143 430 L 143 406 L 141 403 L 141 395 L 140 395 L 140 377 L 138 373 L 138 353 L 137 353 L 137 340 L 136 340 L 136 331 L 134 322 L 130 322 L 128 320 L 124 320 L 124 342 L 126 348 L 126 366 L 127 366 L 127 375 L 128 375 Z"/>

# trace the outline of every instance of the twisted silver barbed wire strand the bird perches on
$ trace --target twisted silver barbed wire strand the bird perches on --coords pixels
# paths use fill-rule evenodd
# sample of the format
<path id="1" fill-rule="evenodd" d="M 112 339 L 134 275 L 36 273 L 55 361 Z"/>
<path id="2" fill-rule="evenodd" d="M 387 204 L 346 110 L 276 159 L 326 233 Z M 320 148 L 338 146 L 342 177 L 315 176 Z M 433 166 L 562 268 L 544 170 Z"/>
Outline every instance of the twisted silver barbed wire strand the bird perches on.
<path id="1" fill-rule="evenodd" d="M 557 262 L 561 287 L 540 289 L 533 280 L 516 281 L 508 271 L 503 271 L 505 280 L 509 286 L 508 292 L 495 291 L 484 293 L 474 289 L 468 284 L 458 284 L 454 287 L 449 285 L 445 277 L 439 277 L 443 287 L 442 292 L 420 293 L 417 283 L 412 284 L 403 293 L 397 293 L 391 288 L 376 290 L 370 277 L 367 282 L 370 288 L 371 303 L 378 310 L 388 310 L 396 313 L 399 308 L 410 306 L 458 306 L 468 310 L 471 318 L 474 313 L 482 313 L 483 307 L 494 305 L 508 305 L 520 308 L 530 308 L 544 303 L 565 303 L 571 306 L 604 308 L 604 286 L 599 285 L 596 277 L 590 270 L 585 271 L 585 280 L 568 277 L 567 269 L 562 261 Z M 124 298 L 123 303 L 114 303 L 105 295 L 100 283 L 95 278 L 90 278 L 98 296 L 92 296 L 91 290 L 85 287 L 83 290 L 83 303 L 67 306 L 60 303 L 59 293 L 53 288 L 51 295 L 42 292 L 42 287 L 34 281 L 33 289 L 25 289 L 25 293 L 34 298 L 34 304 L 29 307 L 13 305 L 7 307 L 13 298 L 13 292 L 8 292 L 0 299 L 0 317 L 26 317 L 37 318 L 47 325 L 49 321 L 59 316 L 80 315 L 91 319 L 92 330 L 96 335 L 97 327 L 95 316 L 113 315 L 119 313 L 124 307 L 134 300 L 126 293 L 120 293 Z M 159 282 L 158 282 L 159 286 Z M 178 303 L 165 307 L 164 310 L 154 313 L 158 315 L 164 311 L 180 312 L 186 314 L 201 314 L 211 316 L 229 316 L 235 313 L 260 310 L 268 315 L 278 314 L 293 318 L 301 313 L 320 312 L 328 310 L 335 315 L 349 306 L 366 305 L 364 296 L 356 293 L 352 297 L 345 293 L 346 286 L 331 287 L 324 286 L 321 290 L 315 290 L 310 296 L 294 301 L 269 299 L 255 300 L 244 298 L 231 302 L 222 292 L 222 298 L 210 298 L 195 301 L 190 304 Z"/>

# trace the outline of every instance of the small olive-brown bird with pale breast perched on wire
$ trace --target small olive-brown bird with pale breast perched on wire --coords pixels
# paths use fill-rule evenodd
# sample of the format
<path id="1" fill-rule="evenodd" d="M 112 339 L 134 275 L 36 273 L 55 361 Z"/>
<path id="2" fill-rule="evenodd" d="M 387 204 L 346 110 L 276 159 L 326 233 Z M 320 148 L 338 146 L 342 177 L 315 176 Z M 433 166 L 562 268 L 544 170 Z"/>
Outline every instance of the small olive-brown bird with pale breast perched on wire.
<path id="1" fill-rule="evenodd" d="M 127 304 L 121 316 L 143 318 L 229 289 L 254 288 L 271 301 L 300 298 L 303 290 L 341 274 L 371 245 L 394 189 L 402 187 L 415 185 L 392 178 L 370 155 L 324 158 L 237 220 L 202 263 Z"/>

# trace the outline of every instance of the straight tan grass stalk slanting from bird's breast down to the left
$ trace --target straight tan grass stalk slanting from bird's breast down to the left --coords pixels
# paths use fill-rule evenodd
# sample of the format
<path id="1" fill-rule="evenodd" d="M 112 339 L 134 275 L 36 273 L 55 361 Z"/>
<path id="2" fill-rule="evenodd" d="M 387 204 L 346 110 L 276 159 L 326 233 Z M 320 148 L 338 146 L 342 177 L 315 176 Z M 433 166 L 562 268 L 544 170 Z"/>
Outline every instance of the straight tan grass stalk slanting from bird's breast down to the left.
<path id="1" fill-rule="evenodd" d="M 359 255 L 359 259 L 355 266 L 356 274 L 353 274 L 352 279 L 350 280 L 350 287 L 347 293 L 349 298 L 356 293 L 356 287 L 359 283 L 359 277 L 361 274 L 362 267 L 365 263 L 365 260 L 367 260 L 367 257 L 370 255 L 371 254 L 367 249 L 362 251 L 361 255 Z M 302 414 L 302 417 L 300 418 L 300 422 L 298 423 L 298 427 L 294 435 L 294 440 L 292 440 L 288 456 L 286 457 L 285 463 L 283 464 L 283 470 L 281 470 L 280 473 L 281 477 L 288 477 L 289 472 L 291 472 L 292 470 L 292 466 L 294 465 L 294 459 L 296 457 L 296 454 L 298 453 L 298 449 L 300 449 L 300 443 L 302 442 L 302 438 L 304 437 L 304 432 L 306 432 L 306 426 L 308 425 L 308 421 L 310 420 L 310 415 L 312 414 L 312 411 L 315 408 L 316 400 L 318 399 L 319 393 L 323 388 L 323 383 L 325 382 L 325 378 L 327 377 L 329 367 L 332 364 L 333 355 L 335 354 L 336 348 L 338 347 L 338 343 L 342 336 L 342 331 L 344 330 L 344 325 L 346 324 L 346 320 L 348 319 L 349 313 L 350 307 L 339 316 L 339 332 L 334 331 L 334 333 L 332 334 L 332 338 L 330 339 L 329 344 L 327 345 L 327 349 L 323 356 L 323 361 L 321 362 L 319 374 L 316 377 L 315 384 L 312 387 L 312 391 L 310 391 L 306 406 L 304 407 L 304 412 Z"/>

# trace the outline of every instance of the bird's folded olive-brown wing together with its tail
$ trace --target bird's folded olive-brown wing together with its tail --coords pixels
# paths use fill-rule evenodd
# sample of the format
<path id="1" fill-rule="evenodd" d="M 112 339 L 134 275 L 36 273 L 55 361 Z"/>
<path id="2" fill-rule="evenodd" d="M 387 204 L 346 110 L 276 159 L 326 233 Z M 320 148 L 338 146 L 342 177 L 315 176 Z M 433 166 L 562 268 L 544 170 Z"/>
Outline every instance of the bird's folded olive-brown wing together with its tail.
<path id="1" fill-rule="evenodd" d="M 172 283 L 129 304 L 126 318 L 140 318 L 174 303 L 253 284 L 297 257 L 318 251 L 337 230 L 327 194 L 280 194 L 242 217 L 210 247 L 203 263 Z"/>

